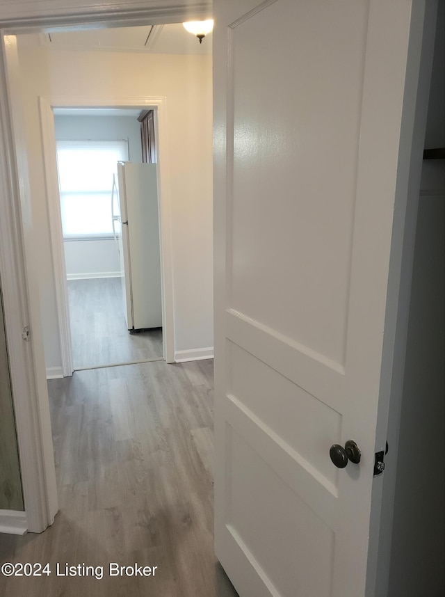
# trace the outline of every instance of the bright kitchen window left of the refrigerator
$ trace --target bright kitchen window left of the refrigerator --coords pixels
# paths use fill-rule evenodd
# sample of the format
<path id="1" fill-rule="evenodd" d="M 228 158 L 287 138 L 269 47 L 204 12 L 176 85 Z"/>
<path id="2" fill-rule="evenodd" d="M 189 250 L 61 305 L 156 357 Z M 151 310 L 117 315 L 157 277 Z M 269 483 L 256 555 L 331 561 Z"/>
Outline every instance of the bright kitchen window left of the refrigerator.
<path id="1" fill-rule="evenodd" d="M 128 160 L 125 141 L 57 141 L 64 239 L 111 237 L 111 189 L 118 161 Z"/>

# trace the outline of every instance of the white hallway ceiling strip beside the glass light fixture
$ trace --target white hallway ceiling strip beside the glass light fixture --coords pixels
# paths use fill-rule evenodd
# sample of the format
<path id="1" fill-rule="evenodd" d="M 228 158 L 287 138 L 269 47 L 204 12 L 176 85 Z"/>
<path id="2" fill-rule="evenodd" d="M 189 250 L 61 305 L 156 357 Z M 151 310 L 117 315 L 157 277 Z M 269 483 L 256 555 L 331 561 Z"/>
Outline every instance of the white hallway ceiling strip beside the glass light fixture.
<path id="1" fill-rule="evenodd" d="M 181 23 L 57 31 L 22 35 L 21 38 L 25 45 L 37 43 L 52 49 L 136 51 L 148 54 L 211 54 L 212 51 L 211 33 L 200 44 Z"/>

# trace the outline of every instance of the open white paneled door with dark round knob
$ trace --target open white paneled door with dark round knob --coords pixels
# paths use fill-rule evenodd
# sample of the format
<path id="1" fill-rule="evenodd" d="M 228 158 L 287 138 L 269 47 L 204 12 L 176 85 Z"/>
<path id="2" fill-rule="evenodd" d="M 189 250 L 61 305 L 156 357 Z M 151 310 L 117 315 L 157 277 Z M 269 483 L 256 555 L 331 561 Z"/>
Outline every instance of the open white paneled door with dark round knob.
<path id="1" fill-rule="evenodd" d="M 241 597 L 372 573 L 422 7 L 214 1 L 216 555 Z"/>

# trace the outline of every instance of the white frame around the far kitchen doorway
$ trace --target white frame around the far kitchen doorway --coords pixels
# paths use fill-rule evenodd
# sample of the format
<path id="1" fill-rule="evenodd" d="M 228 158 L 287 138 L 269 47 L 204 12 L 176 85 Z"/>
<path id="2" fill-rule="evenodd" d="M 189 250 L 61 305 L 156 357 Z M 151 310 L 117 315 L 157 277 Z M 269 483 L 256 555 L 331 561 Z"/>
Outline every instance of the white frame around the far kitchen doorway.
<path id="1" fill-rule="evenodd" d="M 13 102 L 17 105 L 19 102 Z M 161 296 L 162 296 L 162 340 L 163 360 L 175 362 L 175 319 L 173 310 L 173 271 L 170 172 L 168 159 L 168 114 L 165 97 L 99 97 L 99 96 L 41 96 L 39 98 L 42 122 L 42 153 L 44 160 L 45 186 L 51 235 L 51 253 L 56 286 L 56 304 L 62 358 L 63 376 L 72 375 L 74 361 L 70 328 L 65 252 L 63 246 L 62 220 L 56 161 L 56 134 L 54 108 L 140 108 L 154 109 L 156 143 L 159 159 L 156 162 L 158 176 L 159 238 L 161 245 Z M 157 125 L 157 126 L 156 126 Z"/>

